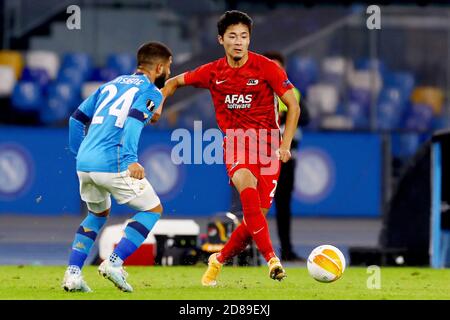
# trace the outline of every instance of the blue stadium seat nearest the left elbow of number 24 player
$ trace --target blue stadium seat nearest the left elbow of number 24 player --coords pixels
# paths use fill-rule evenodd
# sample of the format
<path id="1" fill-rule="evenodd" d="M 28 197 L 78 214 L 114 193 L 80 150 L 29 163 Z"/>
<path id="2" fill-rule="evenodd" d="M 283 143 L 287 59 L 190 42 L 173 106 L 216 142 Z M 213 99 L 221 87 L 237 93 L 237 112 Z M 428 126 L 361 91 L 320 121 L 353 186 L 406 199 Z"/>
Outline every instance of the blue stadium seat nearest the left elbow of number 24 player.
<path id="1" fill-rule="evenodd" d="M 72 83 L 52 83 L 47 103 L 41 111 L 41 121 L 48 125 L 65 121 L 79 102 L 79 91 Z"/>

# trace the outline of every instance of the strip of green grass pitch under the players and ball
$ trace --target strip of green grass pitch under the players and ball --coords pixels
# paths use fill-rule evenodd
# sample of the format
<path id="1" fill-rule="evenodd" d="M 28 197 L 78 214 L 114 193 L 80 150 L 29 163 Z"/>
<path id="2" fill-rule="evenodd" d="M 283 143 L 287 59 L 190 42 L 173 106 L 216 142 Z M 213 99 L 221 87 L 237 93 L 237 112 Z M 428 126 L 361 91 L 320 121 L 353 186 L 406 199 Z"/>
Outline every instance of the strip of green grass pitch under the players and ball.
<path id="1" fill-rule="evenodd" d="M 316 300 L 316 299 L 450 299 L 450 270 L 381 268 L 381 288 L 368 289 L 366 268 L 351 267 L 334 283 L 313 280 L 306 268 L 287 268 L 288 277 L 276 282 L 267 267 L 225 267 L 216 288 L 204 288 L 205 266 L 127 267 L 133 293 L 123 293 L 97 274 L 83 269 L 92 293 L 61 289 L 64 266 L 1 266 L 2 300 Z"/>

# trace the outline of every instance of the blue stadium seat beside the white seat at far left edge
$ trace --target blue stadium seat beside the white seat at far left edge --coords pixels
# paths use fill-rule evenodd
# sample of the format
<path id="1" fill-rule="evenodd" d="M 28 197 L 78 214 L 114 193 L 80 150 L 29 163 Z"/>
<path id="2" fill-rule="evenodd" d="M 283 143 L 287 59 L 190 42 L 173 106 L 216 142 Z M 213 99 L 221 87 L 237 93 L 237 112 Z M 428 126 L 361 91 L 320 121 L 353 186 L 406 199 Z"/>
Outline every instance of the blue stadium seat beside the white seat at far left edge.
<path id="1" fill-rule="evenodd" d="M 37 111 L 44 104 L 41 87 L 36 82 L 19 81 L 11 97 L 14 108 L 22 111 Z"/>

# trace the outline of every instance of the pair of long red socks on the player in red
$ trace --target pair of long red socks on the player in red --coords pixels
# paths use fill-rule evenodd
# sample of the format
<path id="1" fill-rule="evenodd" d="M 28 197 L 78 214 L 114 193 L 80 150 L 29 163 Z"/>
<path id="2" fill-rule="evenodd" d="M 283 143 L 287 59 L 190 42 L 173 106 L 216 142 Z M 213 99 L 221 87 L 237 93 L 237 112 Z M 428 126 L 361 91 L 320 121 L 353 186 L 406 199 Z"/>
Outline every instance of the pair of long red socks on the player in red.
<path id="1" fill-rule="evenodd" d="M 245 223 L 242 223 L 234 230 L 217 258 L 219 262 L 223 263 L 234 255 L 239 254 L 247 247 L 250 237 L 252 237 L 264 259 L 269 261 L 275 257 L 275 252 L 270 240 L 269 226 L 261 212 L 258 191 L 254 188 L 244 189 L 241 192 L 241 203 Z"/>

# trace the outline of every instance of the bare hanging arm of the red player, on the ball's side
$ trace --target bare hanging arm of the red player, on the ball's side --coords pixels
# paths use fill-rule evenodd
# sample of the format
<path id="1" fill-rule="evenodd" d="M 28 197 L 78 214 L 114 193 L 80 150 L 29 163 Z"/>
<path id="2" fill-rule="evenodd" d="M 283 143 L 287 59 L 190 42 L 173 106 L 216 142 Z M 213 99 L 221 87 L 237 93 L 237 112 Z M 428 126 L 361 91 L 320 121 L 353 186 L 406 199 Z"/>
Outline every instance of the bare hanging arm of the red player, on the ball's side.
<path id="1" fill-rule="evenodd" d="M 294 89 L 289 89 L 281 97 L 281 101 L 287 107 L 286 124 L 283 133 L 283 140 L 280 146 L 280 160 L 283 162 L 291 158 L 291 144 L 292 139 L 297 131 L 298 119 L 300 118 L 300 105 L 295 96 Z"/>

